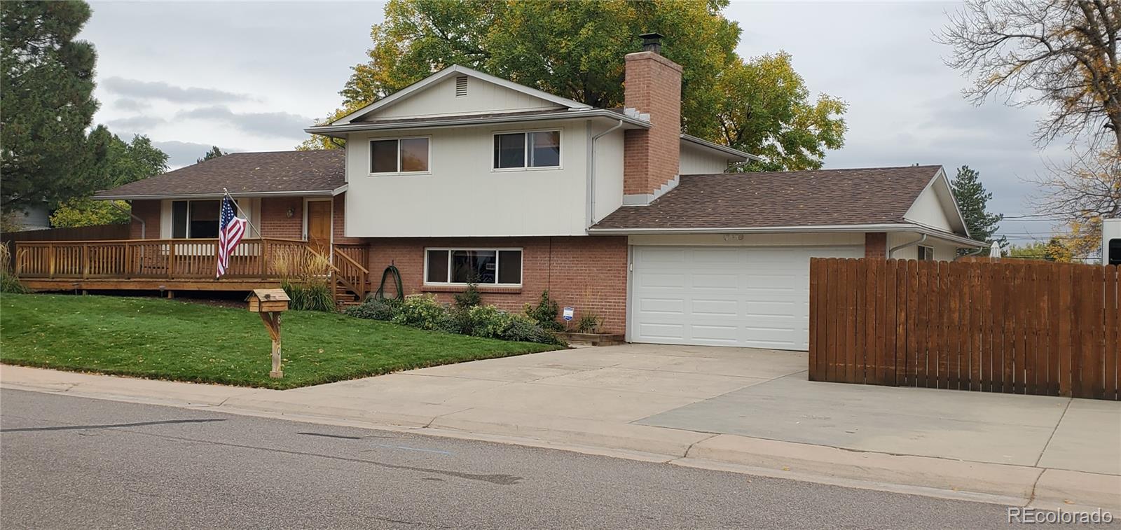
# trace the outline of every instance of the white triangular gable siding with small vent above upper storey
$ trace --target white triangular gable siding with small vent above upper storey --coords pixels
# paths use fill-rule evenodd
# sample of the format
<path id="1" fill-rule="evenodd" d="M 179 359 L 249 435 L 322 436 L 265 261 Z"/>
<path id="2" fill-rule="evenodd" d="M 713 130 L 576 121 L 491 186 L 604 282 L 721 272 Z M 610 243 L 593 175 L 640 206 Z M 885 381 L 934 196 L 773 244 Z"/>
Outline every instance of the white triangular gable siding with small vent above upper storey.
<path id="1" fill-rule="evenodd" d="M 363 120 L 545 109 L 560 109 L 560 106 L 475 77 L 467 78 L 467 95 L 456 97 L 455 76 L 452 75 L 419 93 L 367 115 Z"/>

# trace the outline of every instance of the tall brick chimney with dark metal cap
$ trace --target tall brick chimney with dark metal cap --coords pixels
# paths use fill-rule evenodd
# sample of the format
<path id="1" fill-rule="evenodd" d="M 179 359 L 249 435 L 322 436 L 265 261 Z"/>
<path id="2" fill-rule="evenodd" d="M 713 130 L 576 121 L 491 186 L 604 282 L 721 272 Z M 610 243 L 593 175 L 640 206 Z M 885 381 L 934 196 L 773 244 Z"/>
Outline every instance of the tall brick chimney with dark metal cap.
<path id="1" fill-rule="evenodd" d="M 623 204 L 649 204 L 677 184 L 680 167 L 682 66 L 664 57 L 661 36 L 640 35 L 642 52 L 627 54 L 624 106 L 650 115 L 650 129 L 623 140 Z"/>

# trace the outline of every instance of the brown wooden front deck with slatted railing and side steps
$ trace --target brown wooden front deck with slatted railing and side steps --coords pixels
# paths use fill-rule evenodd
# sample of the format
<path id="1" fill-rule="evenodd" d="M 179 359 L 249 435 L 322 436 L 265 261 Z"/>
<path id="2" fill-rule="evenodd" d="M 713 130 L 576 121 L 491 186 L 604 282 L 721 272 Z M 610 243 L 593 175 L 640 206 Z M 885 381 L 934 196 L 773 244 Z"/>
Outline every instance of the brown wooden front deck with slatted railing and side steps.
<path id="1" fill-rule="evenodd" d="M 34 290 L 213 290 L 278 287 L 284 263 L 318 252 L 304 241 L 242 240 L 222 278 L 217 240 L 18 241 L 13 272 Z M 369 288 L 365 245 L 334 245 L 331 285 L 336 300 L 360 299 Z"/>

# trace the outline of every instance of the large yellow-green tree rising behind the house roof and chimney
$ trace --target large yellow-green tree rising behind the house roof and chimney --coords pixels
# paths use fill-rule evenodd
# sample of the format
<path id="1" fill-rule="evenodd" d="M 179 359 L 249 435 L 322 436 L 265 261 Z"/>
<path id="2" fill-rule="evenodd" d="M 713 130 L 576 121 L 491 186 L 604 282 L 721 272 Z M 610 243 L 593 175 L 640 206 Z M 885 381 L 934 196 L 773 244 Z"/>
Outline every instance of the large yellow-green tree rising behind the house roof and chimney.
<path id="1" fill-rule="evenodd" d="M 810 102 L 789 55 L 749 64 L 735 55 L 739 25 L 724 18 L 728 0 L 632 2 L 526 2 L 390 0 L 386 20 L 371 31 L 370 61 L 354 66 L 330 122 L 452 64 L 580 101 L 593 106 L 623 104 L 623 56 L 640 49 L 638 35 L 666 36 L 663 53 L 684 67 L 682 127 L 689 134 L 732 147 L 770 148 L 759 168 L 819 167 L 825 149 L 843 143 L 844 104 L 830 96 Z M 763 69 L 784 64 L 786 71 Z M 752 76 L 749 65 L 756 73 Z M 787 78 L 779 80 L 786 75 Z M 771 89 L 771 81 L 797 81 L 766 101 L 741 89 Z M 782 97 L 790 97 L 784 101 Z M 754 112 L 736 105 L 768 105 Z M 714 109 L 723 110 L 714 112 Z M 786 113 L 782 113 L 786 111 Z M 742 122 L 741 120 L 749 120 Z M 757 124 L 754 120 L 769 120 Z M 321 122 L 322 123 L 322 122 Z M 725 129 L 732 132 L 725 134 Z M 313 138 L 300 149 L 337 147 Z M 816 164 L 816 166 L 815 166 Z"/>

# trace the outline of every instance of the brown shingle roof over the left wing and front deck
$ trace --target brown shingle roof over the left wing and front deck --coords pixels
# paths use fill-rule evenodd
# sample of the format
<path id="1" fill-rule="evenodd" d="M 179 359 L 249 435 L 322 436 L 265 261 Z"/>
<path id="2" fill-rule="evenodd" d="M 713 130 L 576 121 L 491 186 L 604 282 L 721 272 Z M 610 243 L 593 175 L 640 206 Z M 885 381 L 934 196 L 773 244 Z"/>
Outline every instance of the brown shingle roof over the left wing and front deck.
<path id="1" fill-rule="evenodd" d="M 345 152 L 231 152 L 201 164 L 98 192 L 95 198 L 244 195 L 277 192 L 331 192 L 346 182 Z"/>

